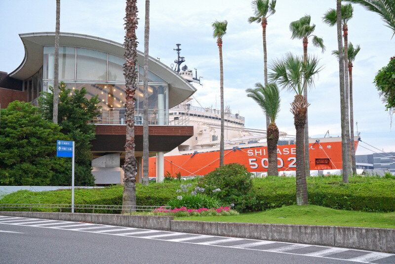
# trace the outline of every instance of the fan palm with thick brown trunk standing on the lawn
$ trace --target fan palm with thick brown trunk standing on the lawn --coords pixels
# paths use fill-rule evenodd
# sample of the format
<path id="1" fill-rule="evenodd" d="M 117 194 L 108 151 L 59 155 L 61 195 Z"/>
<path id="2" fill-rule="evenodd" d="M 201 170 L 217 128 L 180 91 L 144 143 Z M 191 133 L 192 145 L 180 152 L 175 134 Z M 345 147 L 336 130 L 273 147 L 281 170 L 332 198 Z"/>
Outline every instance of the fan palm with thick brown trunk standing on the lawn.
<path id="1" fill-rule="evenodd" d="M 318 67 L 318 59 L 315 57 L 308 56 L 305 62 L 303 57 L 291 53 L 273 62 L 270 68 L 272 70 L 269 74 L 270 81 L 276 81 L 282 88 L 296 93 L 291 103 L 296 129 L 296 203 L 307 205 L 309 201 L 305 173 L 304 129 L 307 107 L 310 104 L 303 96 L 303 90 L 314 84 L 314 77 L 321 68 Z"/>

